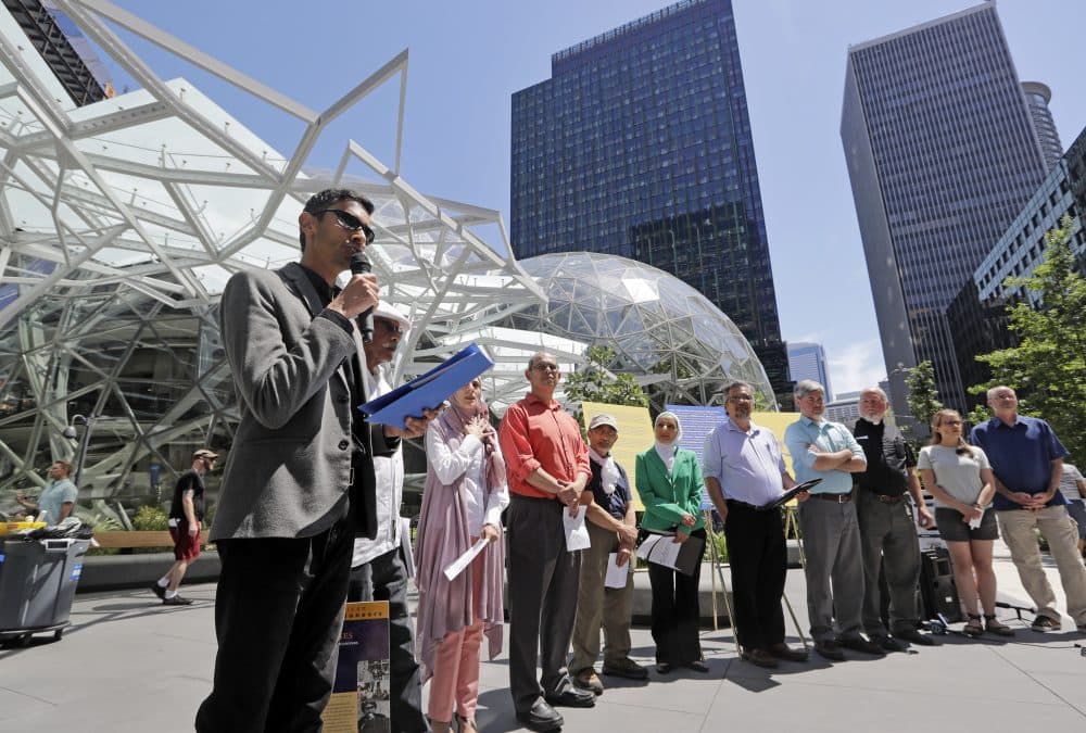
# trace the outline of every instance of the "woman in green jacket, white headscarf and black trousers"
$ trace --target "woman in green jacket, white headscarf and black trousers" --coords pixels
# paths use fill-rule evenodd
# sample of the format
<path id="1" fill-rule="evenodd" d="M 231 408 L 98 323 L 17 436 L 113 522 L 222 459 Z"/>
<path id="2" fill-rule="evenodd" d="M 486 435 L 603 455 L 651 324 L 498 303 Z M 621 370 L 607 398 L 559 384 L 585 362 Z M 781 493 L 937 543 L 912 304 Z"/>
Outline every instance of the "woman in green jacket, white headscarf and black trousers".
<path id="1" fill-rule="evenodd" d="M 637 454 L 636 484 L 645 505 L 642 529 L 674 532 L 675 542 L 699 538 L 705 553 L 702 521 L 702 469 L 697 456 L 679 447 L 682 428 L 674 413 L 660 413 L 653 426 L 656 445 Z M 702 658 L 697 628 L 697 605 L 702 558 L 693 576 L 648 564 L 653 586 L 653 640 L 656 642 L 656 671 L 667 674 L 677 665 L 695 672 L 708 672 Z"/>

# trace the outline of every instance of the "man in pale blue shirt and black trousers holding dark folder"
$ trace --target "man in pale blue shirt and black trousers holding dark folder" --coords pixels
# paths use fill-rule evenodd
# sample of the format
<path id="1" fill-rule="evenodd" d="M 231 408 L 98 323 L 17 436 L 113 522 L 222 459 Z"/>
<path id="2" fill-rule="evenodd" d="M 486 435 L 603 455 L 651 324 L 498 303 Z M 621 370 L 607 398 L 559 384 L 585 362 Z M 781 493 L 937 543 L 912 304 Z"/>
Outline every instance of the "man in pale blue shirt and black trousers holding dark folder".
<path id="1" fill-rule="evenodd" d="M 776 435 L 750 420 L 753 407 L 754 389 L 748 383 L 728 386 L 728 420 L 705 439 L 702 475 L 709 498 L 724 520 L 733 625 L 743 658 L 773 668 L 778 659 L 807 659 L 806 652 L 790 649 L 784 643 L 781 598 L 788 555 L 781 510 L 760 508 L 780 498 L 795 481 L 784 468 Z"/>

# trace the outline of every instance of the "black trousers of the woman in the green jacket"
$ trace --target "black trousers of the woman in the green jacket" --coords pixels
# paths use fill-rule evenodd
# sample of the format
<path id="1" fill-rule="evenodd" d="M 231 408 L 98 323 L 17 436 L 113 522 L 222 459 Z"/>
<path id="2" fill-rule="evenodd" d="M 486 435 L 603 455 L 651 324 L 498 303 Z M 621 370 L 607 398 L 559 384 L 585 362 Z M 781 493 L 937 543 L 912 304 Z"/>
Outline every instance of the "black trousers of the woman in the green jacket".
<path id="1" fill-rule="evenodd" d="M 705 530 L 695 530 L 692 538 L 700 538 L 702 556 L 705 555 Z M 702 614 L 697 602 L 702 579 L 702 561 L 693 576 L 648 564 L 648 582 L 653 586 L 653 641 L 656 642 L 656 661 L 685 665 L 702 658 L 702 642 L 697 627 Z"/>

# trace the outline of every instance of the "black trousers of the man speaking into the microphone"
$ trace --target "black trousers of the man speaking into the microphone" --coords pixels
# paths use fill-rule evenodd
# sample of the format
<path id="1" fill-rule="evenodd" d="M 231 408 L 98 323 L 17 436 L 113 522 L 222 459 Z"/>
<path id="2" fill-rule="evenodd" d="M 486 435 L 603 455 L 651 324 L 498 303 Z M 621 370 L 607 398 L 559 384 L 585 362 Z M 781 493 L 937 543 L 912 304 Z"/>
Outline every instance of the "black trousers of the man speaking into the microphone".
<path id="1" fill-rule="evenodd" d="M 218 654 L 200 733 L 319 731 L 336 678 L 354 533 L 220 540 Z"/>

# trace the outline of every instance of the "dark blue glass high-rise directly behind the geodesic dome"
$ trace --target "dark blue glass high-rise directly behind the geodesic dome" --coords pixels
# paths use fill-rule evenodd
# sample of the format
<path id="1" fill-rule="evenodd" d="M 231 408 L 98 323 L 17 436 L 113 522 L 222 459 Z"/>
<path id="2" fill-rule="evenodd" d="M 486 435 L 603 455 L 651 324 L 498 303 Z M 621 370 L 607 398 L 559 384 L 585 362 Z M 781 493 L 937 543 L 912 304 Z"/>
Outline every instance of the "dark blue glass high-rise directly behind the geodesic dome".
<path id="1" fill-rule="evenodd" d="M 791 402 L 730 0 L 683 0 L 551 56 L 513 96 L 518 257 L 618 254 L 699 290 Z"/>

